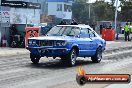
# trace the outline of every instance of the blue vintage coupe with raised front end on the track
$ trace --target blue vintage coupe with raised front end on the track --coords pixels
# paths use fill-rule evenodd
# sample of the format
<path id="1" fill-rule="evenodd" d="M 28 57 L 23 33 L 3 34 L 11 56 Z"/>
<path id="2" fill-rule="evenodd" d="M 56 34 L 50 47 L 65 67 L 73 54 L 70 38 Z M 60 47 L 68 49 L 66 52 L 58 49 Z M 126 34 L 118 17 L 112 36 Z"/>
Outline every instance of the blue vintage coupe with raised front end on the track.
<path id="1" fill-rule="evenodd" d="M 76 64 L 77 57 L 91 57 L 99 63 L 106 41 L 88 25 L 57 25 L 46 36 L 28 39 L 27 49 L 33 63 L 41 57 L 60 57 L 68 66 Z"/>

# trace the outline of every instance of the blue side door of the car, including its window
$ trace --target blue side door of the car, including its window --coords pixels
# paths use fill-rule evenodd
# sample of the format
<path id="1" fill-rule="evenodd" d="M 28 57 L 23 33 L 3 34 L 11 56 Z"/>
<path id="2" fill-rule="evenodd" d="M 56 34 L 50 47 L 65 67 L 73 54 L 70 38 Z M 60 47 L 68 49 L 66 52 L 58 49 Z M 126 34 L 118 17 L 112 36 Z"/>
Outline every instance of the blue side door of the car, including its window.
<path id="1" fill-rule="evenodd" d="M 89 37 L 88 29 L 81 29 L 79 38 L 79 54 L 80 56 L 91 56 L 92 40 Z"/>

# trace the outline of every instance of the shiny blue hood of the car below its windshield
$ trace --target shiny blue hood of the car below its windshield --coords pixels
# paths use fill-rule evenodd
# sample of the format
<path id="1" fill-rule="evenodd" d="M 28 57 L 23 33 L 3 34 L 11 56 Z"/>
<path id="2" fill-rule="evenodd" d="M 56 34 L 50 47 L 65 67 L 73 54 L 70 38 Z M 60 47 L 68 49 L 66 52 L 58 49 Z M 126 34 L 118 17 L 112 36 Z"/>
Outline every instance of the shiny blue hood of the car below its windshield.
<path id="1" fill-rule="evenodd" d="M 69 37 L 69 36 L 40 36 L 40 37 L 32 37 L 29 39 L 35 39 L 35 40 L 74 40 L 75 37 Z"/>

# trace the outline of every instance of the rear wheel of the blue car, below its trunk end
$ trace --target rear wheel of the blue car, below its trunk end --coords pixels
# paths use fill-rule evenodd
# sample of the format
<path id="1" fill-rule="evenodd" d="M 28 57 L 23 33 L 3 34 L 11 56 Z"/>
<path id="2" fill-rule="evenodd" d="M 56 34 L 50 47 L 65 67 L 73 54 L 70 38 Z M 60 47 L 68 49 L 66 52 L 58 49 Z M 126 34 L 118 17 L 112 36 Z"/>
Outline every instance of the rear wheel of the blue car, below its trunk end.
<path id="1" fill-rule="evenodd" d="M 92 60 L 93 63 L 99 63 L 101 61 L 101 59 L 102 59 L 102 52 L 103 51 L 102 51 L 101 47 L 97 48 L 96 54 L 93 57 L 91 57 L 91 60 Z"/>

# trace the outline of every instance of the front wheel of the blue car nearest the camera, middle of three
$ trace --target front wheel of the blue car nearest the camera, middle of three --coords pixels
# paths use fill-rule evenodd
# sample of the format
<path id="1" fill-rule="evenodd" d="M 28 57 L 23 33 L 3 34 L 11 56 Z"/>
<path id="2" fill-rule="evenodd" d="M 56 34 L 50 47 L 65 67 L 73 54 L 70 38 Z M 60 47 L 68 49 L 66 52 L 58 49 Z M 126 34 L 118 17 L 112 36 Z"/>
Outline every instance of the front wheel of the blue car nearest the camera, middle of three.
<path id="1" fill-rule="evenodd" d="M 77 51 L 76 49 L 72 49 L 70 53 L 67 55 L 67 65 L 75 66 L 76 58 L 77 58 Z"/>

